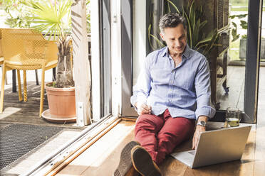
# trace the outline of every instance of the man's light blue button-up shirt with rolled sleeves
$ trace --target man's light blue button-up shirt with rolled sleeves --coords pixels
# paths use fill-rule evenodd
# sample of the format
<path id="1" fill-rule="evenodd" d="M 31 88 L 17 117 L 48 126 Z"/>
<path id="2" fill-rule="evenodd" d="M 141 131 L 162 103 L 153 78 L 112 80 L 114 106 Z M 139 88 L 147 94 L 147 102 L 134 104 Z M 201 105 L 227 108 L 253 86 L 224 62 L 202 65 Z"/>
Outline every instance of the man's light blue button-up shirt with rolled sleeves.
<path id="1" fill-rule="evenodd" d="M 136 102 L 151 106 L 157 116 L 168 109 L 172 117 L 212 118 L 215 109 L 206 57 L 187 45 L 182 62 L 175 67 L 167 47 L 155 50 L 145 58 L 130 101 L 133 106 Z"/>

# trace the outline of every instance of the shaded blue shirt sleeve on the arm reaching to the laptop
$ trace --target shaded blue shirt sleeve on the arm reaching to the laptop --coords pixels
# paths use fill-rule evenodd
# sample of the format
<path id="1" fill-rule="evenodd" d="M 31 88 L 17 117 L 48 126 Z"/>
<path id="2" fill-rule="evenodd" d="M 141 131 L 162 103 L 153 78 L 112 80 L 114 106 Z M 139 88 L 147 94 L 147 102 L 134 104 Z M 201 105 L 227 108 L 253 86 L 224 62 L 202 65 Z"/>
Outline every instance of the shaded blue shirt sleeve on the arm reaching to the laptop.
<path id="1" fill-rule="evenodd" d="M 215 109 L 212 107 L 211 103 L 209 64 L 205 57 L 199 64 L 194 84 L 197 96 L 197 109 L 195 111 L 196 119 L 198 119 L 199 116 L 212 118 L 215 114 Z"/>

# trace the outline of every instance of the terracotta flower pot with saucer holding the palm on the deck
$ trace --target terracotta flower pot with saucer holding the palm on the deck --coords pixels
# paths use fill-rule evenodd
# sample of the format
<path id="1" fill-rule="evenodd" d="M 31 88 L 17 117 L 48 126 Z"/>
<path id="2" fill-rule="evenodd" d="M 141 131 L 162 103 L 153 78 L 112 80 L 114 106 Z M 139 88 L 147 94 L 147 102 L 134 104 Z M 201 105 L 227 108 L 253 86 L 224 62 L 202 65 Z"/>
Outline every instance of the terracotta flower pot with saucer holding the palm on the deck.
<path id="1" fill-rule="evenodd" d="M 76 121 L 75 87 L 55 88 L 46 84 L 45 89 L 49 109 L 43 112 L 43 118 L 55 122 Z"/>

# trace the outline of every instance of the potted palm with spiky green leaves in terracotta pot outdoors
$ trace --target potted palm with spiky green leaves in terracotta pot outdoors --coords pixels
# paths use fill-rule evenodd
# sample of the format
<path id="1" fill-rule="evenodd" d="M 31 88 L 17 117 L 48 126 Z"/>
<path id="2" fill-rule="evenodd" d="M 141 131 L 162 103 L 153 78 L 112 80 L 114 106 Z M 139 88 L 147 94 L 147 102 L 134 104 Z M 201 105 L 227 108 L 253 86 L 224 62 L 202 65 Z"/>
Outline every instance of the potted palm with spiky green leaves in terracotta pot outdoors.
<path id="1" fill-rule="evenodd" d="M 76 99 L 72 70 L 71 0 L 26 1 L 33 14 L 31 27 L 56 40 L 58 65 L 56 81 L 46 84 L 49 109 L 43 111 L 48 121 L 76 121 Z"/>

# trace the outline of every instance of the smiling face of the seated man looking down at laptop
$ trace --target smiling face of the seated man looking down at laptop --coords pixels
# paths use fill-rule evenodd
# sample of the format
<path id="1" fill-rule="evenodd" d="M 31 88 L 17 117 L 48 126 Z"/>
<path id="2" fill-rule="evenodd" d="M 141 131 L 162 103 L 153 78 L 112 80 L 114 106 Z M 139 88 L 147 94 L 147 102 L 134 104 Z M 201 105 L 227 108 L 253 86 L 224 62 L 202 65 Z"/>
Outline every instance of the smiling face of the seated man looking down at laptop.
<path id="1" fill-rule="evenodd" d="M 167 43 L 170 55 L 182 54 L 187 45 L 187 31 L 182 24 L 175 28 L 165 28 L 164 33 L 160 33 L 162 40 Z"/>

